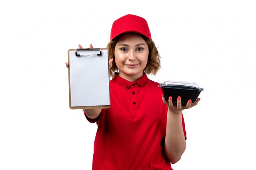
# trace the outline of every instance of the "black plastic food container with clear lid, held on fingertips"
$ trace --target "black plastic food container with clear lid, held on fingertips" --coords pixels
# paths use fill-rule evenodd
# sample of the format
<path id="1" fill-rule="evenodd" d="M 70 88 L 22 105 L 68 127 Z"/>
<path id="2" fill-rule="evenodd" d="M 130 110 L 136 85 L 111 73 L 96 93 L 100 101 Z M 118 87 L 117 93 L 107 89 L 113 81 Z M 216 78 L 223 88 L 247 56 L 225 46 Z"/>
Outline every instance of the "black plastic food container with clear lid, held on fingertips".
<path id="1" fill-rule="evenodd" d="M 195 103 L 201 91 L 204 90 L 204 88 L 199 87 L 195 82 L 181 81 L 167 81 L 163 84 L 160 83 L 158 87 L 162 88 L 166 101 L 171 96 L 173 103 L 177 103 L 177 98 L 180 96 L 182 104 L 186 104 L 189 99 L 192 100 L 192 103 Z"/>

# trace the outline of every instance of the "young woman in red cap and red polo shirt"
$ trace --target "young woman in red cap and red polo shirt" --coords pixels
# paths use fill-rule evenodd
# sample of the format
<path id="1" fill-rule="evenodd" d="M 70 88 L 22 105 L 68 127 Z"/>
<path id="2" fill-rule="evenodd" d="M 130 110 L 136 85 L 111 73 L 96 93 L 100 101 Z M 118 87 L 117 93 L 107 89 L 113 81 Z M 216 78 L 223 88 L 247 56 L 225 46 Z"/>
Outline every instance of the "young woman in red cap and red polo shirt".
<path id="1" fill-rule="evenodd" d="M 182 110 L 200 99 L 182 105 L 180 97 L 173 104 L 170 96 L 166 102 L 159 83 L 148 79 L 146 74 L 159 70 L 160 56 L 144 18 L 117 19 L 107 48 L 110 108 L 83 110 L 98 125 L 92 169 L 171 170 L 186 148 Z"/>

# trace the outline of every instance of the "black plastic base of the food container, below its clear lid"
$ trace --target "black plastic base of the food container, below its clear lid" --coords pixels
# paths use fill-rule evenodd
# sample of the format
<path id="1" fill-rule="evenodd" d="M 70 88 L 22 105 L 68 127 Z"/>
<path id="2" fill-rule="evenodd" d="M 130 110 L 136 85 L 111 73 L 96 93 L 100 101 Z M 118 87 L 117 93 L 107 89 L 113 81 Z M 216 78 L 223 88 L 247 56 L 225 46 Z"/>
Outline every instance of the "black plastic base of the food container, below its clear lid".
<path id="1" fill-rule="evenodd" d="M 203 91 L 203 88 L 194 88 L 182 85 L 159 84 L 159 87 L 162 88 L 164 98 L 167 102 L 169 97 L 171 96 L 173 103 L 177 103 L 177 98 L 180 96 L 182 104 L 186 104 L 189 101 L 189 99 L 192 100 L 192 103 L 195 103 L 201 91 Z"/>

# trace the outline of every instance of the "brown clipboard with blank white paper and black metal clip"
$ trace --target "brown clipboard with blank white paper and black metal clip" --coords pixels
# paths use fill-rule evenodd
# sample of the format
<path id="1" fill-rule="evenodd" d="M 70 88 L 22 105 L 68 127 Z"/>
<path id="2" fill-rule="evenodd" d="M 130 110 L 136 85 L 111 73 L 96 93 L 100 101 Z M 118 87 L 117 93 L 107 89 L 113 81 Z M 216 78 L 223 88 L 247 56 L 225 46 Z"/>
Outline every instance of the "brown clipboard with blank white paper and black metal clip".
<path id="1" fill-rule="evenodd" d="M 108 49 L 70 49 L 68 63 L 70 108 L 109 108 Z"/>

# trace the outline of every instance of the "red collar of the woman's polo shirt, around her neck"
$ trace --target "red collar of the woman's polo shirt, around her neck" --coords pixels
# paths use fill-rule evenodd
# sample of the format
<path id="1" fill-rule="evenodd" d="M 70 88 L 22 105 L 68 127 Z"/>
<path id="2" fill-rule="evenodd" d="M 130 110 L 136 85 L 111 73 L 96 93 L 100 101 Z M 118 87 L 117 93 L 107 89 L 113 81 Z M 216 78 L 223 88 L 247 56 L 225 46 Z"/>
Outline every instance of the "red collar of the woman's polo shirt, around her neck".
<path id="1" fill-rule="evenodd" d="M 121 86 L 125 89 L 128 89 L 133 84 L 137 84 L 139 87 L 144 86 L 146 84 L 146 82 L 148 82 L 148 76 L 146 75 L 146 73 L 143 73 L 143 75 L 139 79 L 137 79 L 135 82 L 130 82 L 130 81 L 120 77 L 118 75 L 118 73 L 115 73 L 115 77 L 113 77 L 112 80 L 119 86 Z"/>

